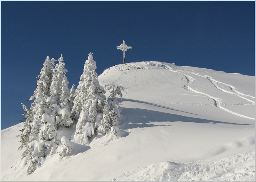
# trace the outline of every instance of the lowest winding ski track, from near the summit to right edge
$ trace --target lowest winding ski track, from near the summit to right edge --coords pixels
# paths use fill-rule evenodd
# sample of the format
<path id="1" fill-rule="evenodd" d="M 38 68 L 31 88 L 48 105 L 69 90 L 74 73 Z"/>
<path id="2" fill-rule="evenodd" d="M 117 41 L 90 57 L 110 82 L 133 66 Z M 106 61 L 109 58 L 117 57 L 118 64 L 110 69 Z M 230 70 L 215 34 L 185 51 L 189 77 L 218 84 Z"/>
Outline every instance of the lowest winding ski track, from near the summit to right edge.
<path id="1" fill-rule="evenodd" d="M 214 103 L 215 103 L 215 106 L 218 107 L 218 108 L 220 108 L 220 109 L 222 109 L 223 111 L 226 111 L 226 112 L 228 112 L 228 113 L 234 114 L 234 115 L 239 116 L 239 117 L 243 117 L 243 118 L 255 120 L 254 118 L 251 118 L 251 117 L 248 117 L 248 116 L 244 116 L 244 115 L 242 115 L 242 114 L 235 113 L 235 112 L 233 112 L 233 111 L 230 111 L 230 110 L 228 110 L 228 109 L 226 109 L 226 108 L 220 106 L 222 99 L 213 97 L 213 96 L 208 95 L 208 94 L 206 94 L 206 93 L 204 93 L 204 92 L 196 91 L 196 90 L 192 89 L 191 87 L 189 87 L 190 84 L 193 84 L 193 83 L 195 82 L 195 79 L 194 79 L 193 77 L 188 76 L 188 75 L 186 75 L 186 74 L 184 74 L 184 73 L 181 73 L 181 72 L 177 71 L 177 69 L 176 69 L 176 70 L 173 70 L 171 67 L 169 67 L 169 66 L 167 66 L 167 65 L 165 65 L 165 66 L 166 66 L 166 68 L 168 68 L 170 71 L 175 72 L 175 73 L 180 73 L 181 75 L 183 75 L 183 76 L 186 77 L 186 79 L 187 79 L 187 81 L 188 81 L 188 84 L 186 84 L 186 85 L 183 86 L 183 89 L 184 89 L 185 91 L 191 91 L 191 92 L 194 92 L 194 93 L 198 93 L 198 94 L 205 95 L 205 96 L 207 96 L 207 97 L 213 99 L 213 100 L 214 100 Z M 185 71 L 185 70 L 180 70 L 180 71 Z M 185 71 L 185 72 L 188 72 L 188 71 Z M 189 72 L 189 73 L 191 73 L 191 72 Z M 195 74 L 195 75 L 197 75 L 197 76 L 201 76 L 201 75 L 196 74 L 196 73 L 193 73 L 193 74 Z M 210 77 L 210 76 L 209 76 L 209 77 Z M 206 78 L 207 78 L 207 77 L 206 77 Z M 233 86 L 232 86 L 232 87 L 233 87 Z M 235 88 L 235 87 L 234 87 L 234 88 Z M 221 89 L 220 89 L 220 90 L 221 90 Z M 223 89 L 222 89 L 222 91 L 223 91 Z M 231 92 L 231 93 L 232 93 L 232 92 Z M 239 93 L 240 93 L 240 92 L 239 92 Z M 254 103 L 255 103 L 255 102 L 254 102 Z M 244 127 L 244 126 L 243 126 L 243 127 Z"/>

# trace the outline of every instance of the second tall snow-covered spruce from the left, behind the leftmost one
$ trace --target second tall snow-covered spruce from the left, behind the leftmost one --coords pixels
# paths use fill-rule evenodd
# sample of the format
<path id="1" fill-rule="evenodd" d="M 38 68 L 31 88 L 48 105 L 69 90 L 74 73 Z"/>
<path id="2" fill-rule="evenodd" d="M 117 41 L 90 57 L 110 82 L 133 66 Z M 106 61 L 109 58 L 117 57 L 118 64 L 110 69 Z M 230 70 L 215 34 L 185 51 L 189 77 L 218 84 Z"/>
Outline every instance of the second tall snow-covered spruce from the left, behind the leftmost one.
<path id="1" fill-rule="evenodd" d="M 70 97 L 68 79 L 65 76 L 67 69 L 64 68 L 62 55 L 58 61 L 52 76 L 51 96 L 47 99 L 52 112 L 50 115 L 43 114 L 39 133 L 39 138 L 46 140 L 45 147 L 50 150 L 50 155 L 56 153 L 56 149 L 62 145 L 61 141 L 56 138 L 57 129 L 60 126 L 70 127 L 73 123 L 70 118 L 72 103 L 68 100 Z"/>

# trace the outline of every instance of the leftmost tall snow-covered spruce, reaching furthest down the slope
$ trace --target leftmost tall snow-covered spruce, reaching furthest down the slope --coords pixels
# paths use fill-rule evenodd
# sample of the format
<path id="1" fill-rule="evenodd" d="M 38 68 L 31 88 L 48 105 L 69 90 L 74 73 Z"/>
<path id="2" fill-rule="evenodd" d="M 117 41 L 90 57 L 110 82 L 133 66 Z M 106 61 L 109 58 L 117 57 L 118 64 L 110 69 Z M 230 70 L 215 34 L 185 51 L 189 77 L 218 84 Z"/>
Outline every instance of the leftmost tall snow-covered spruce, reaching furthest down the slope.
<path id="1" fill-rule="evenodd" d="M 50 85 L 53 73 L 55 59 L 51 59 L 47 56 L 44 62 L 44 67 L 41 69 L 40 77 L 37 81 L 37 87 L 33 96 L 29 100 L 34 100 L 30 108 L 23 104 L 24 127 L 22 134 L 20 135 L 22 145 L 18 148 L 23 149 L 22 160 L 28 164 L 28 173 L 33 173 L 36 170 L 37 165 L 42 165 L 42 160 L 45 155 L 44 141 L 39 140 L 39 127 L 43 114 L 50 114 L 51 110 L 49 104 L 47 104 L 47 98 L 50 96 Z"/>

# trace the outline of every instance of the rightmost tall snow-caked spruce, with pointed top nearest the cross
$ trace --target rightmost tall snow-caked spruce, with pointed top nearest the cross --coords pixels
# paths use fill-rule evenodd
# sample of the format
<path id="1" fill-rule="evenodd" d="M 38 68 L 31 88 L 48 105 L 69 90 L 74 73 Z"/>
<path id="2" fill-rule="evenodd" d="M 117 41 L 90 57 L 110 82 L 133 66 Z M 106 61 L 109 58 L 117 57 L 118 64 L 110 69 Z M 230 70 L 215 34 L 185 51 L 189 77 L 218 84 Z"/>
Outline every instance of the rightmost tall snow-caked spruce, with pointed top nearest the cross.
<path id="1" fill-rule="evenodd" d="M 95 135 L 94 124 L 103 108 L 105 90 L 100 86 L 96 73 L 96 62 L 90 52 L 84 64 L 84 72 L 76 89 L 72 112 L 78 118 L 73 141 L 88 144 L 88 137 Z"/>

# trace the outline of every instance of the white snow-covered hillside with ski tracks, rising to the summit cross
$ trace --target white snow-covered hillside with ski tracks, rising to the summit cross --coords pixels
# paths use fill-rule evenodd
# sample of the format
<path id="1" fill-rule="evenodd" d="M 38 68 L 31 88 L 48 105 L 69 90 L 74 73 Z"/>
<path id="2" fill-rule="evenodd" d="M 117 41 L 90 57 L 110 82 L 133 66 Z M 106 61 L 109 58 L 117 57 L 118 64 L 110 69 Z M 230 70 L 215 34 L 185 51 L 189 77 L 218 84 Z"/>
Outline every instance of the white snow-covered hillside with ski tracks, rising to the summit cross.
<path id="1" fill-rule="evenodd" d="M 27 176 L 22 124 L 1 130 L 1 181 L 255 181 L 255 76 L 137 62 L 98 79 L 124 85 L 122 137 L 70 142 L 72 153 L 47 156 Z"/>

